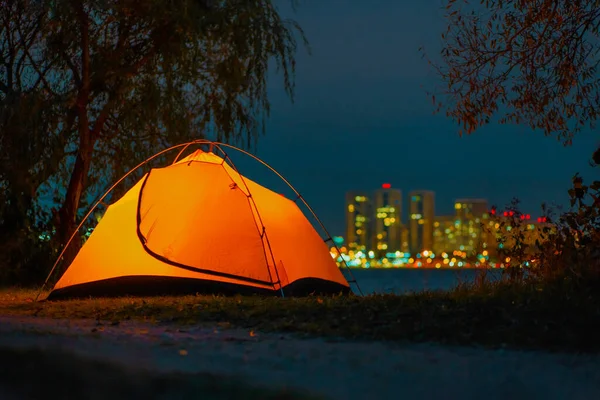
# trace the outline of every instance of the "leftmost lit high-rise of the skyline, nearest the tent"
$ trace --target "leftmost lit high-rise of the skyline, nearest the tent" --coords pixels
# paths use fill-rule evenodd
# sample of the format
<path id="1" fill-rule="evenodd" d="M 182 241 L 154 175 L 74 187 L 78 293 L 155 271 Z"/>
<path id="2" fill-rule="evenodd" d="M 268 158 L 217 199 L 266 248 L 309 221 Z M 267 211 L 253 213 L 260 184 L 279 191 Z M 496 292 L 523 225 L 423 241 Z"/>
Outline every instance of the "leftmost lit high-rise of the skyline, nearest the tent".
<path id="1" fill-rule="evenodd" d="M 346 243 L 350 250 L 370 250 L 371 197 L 365 192 L 346 193 Z"/>

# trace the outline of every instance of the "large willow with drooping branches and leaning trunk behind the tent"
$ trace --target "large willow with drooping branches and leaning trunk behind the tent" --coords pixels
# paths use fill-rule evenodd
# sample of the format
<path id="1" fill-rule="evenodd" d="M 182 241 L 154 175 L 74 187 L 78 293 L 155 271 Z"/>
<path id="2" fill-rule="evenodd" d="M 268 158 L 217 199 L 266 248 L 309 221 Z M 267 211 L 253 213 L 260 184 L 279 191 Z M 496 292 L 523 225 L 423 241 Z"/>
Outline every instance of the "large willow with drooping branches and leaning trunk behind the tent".
<path id="1" fill-rule="evenodd" d="M 40 76 L 43 100 L 60 110 L 58 123 L 35 135 L 58 135 L 64 144 L 66 159 L 55 175 L 67 183 L 58 225 L 63 242 L 90 178 L 206 131 L 228 141 L 256 139 L 269 111 L 273 61 L 293 94 L 295 34 L 304 36 L 271 0 L 0 3 L 3 20 L 15 25 L 0 31 L 0 41 L 31 42 L 22 56 L 9 52 L 0 60 L 7 71 L 0 89 L 14 86 L 22 62 Z M 38 31 L 27 36 L 21 29 L 32 20 Z"/>

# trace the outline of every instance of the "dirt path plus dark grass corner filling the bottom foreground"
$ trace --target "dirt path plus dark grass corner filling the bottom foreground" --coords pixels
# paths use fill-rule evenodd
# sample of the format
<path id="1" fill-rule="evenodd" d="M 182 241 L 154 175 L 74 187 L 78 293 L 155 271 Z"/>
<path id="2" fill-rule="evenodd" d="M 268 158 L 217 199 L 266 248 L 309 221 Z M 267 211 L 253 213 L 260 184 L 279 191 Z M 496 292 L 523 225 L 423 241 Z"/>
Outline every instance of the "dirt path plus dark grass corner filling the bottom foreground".
<path id="1" fill-rule="evenodd" d="M 106 398 L 108 390 L 113 399 L 600 396 L 598 355 L 299 338 L 218 324 L 3 316 L 0 357 L 2 399 Z"/>

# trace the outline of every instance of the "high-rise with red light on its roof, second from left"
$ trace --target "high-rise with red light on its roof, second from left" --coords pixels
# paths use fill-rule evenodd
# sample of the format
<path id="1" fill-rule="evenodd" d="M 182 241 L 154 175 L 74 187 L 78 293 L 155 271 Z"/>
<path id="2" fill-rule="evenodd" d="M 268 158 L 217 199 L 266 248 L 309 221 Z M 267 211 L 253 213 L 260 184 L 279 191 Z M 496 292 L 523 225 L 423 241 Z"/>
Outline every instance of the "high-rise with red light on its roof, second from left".
<path id="1" fill-rule="evenodd" d="M 373 251 L 380 257 L 402 247 L 402 191 L 384 183 L 373 196 Z"/>

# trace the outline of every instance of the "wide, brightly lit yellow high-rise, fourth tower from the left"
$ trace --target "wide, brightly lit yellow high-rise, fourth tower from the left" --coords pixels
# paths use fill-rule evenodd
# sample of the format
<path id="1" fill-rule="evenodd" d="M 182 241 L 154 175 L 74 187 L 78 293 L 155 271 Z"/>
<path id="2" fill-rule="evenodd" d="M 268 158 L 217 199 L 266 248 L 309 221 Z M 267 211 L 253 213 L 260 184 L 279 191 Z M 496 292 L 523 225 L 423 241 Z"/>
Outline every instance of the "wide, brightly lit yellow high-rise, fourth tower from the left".
<path id="1" fill-rule="evenodd" d="M 458 199 L 454 202 L 454 208 L 459 249 L 471 254 L 486 249 L 489 235 L 482 224 L 487 225 L 489 220 L 487 200 Z"/>

